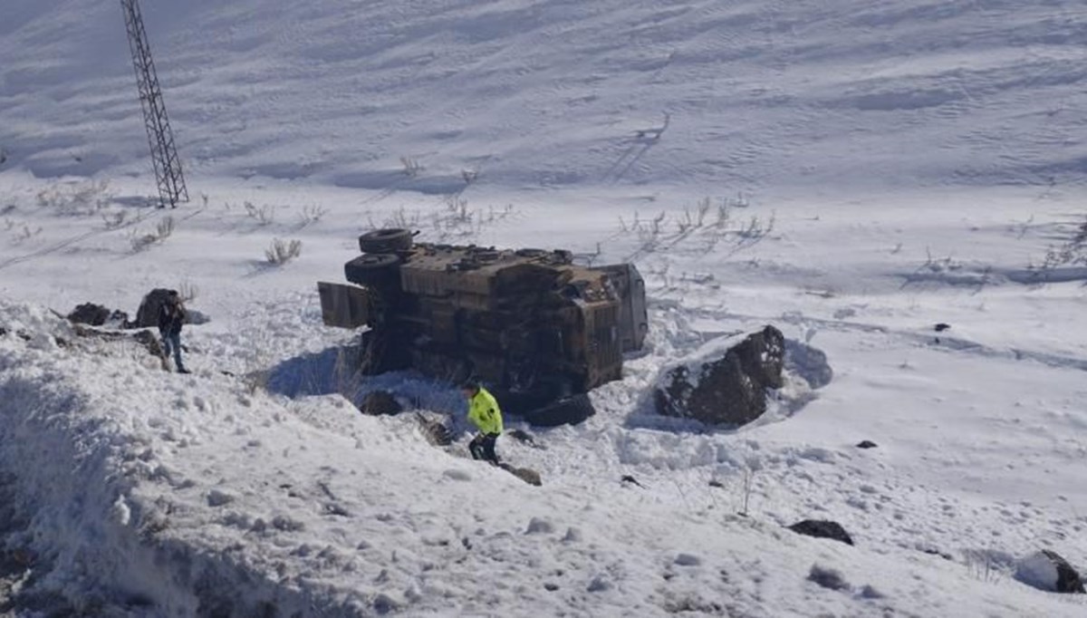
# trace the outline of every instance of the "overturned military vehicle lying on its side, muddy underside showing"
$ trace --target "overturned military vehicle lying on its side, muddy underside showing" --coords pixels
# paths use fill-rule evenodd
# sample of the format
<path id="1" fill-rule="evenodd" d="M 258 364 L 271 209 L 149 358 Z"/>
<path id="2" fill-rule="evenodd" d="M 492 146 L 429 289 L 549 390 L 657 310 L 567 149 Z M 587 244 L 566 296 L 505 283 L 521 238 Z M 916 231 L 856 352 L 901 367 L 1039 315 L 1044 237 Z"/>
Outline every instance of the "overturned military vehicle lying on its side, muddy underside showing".
<path id="1" fill-rule="evenodd" d="M 634 264 L 589 268 L 565 250 L 415 243 L 409 230 L 359 237 L 350 284 L 321 282 L 330 326 L 359 329 L 360 370 L 415 369 L 483 382 L 537 425 L 594 413 L 585 395 L 641 348 L 646 289 Z"/>

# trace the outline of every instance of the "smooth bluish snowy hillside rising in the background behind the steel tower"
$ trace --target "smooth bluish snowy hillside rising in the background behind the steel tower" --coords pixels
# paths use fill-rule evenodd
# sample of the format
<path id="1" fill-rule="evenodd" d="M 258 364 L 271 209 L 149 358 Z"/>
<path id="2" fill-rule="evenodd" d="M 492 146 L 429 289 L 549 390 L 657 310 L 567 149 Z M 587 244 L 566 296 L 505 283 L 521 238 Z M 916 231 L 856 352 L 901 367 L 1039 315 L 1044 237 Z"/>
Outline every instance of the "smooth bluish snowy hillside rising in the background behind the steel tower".
<path id="1" fill-rule="evenodd" d="M 141 4 L 192 174 L 757 190 L 1082 183 L 1087 161 L 1078 0 Z M 145 173 L 115 3 L 0 16 L 10 164 Z"/>

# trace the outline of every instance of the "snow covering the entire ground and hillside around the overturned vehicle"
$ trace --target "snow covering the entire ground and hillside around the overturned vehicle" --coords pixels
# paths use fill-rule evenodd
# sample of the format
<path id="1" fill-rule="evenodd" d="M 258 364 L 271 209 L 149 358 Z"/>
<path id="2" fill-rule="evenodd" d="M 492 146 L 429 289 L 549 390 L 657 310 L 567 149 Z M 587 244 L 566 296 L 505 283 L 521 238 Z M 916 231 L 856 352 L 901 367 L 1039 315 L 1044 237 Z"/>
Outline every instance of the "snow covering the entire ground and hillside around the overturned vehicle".
<path id="1" fill-rule="evenodd" d="M 1087 272 L 1030 268 L 1084 215 L 1080 2 L 142 5 L 175 211 L 143 206 L 117 8 L 0 7 L 0 611 L 1087 613 L 1014 577 L 1087 569 Z M 315 282 L 386 224 L 647 275 L 598 415 L 500 442 L 542 487 L 338 394 Z M 49 312 L 163 285 L 211 318 L 192 375 Z M 737 431 L 652 413 L 662 367 L 766 323 L 832 382 Z"/>

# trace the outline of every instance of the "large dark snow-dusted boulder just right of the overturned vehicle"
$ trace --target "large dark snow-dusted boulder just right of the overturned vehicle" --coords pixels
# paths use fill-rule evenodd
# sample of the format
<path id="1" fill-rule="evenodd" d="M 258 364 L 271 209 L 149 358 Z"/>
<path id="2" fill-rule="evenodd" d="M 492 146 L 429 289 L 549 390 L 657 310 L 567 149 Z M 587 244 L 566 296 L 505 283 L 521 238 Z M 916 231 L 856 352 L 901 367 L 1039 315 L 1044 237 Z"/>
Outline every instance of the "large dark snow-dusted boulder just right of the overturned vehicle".
<path id="1" fill-rule="evenodd" d="M 784 364 L 785 336 L 767 325 L 715 360 L 669 370 L 654 392 L 657 411 L 709 424 L 749 423 L 766 411 L 766 390 L 782 387 Z"/>

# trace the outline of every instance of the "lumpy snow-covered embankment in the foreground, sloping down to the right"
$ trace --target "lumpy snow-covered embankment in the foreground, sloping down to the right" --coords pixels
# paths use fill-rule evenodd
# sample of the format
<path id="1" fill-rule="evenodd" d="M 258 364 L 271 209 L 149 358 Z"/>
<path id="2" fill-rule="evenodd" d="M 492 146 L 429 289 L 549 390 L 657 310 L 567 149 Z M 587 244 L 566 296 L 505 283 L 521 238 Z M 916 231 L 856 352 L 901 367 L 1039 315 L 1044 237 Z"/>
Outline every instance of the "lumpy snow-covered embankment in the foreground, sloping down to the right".
<path id="1" fill-rule="evenodd" d="M 677 465 L 650 457 L 639 465 L 623 454 L 678 447 L 678 455 L 698 442 L 598 418 L 591 427 L 552 432 L 548 450 L 505 445 L 510 457 L 544 471 L 548 484 L 536 489 L 426 445 L 407 418 L 362 417 L 337 396 L 291 401 L 251 394 L 215 373 L 163 373 L 138 347 L 74 337 L 42 311 L 5 304 L 0 316 L 9 329 L 0 338 L 0 395 L 10 404 L 0 461 L 20 471 L 25 518 L 7 544 L 35 556 L 37 581 L 26 585 L 46 609 L 1053 617 L 1084 610 L 1082 600 L 1002 579 L 1001 569 L 1026 555 L 1030 534 L 1005 537 L 1007 551 L 992 551 L 988 531 L 945 519 L 952 529 L 940 532 L 926 523 L 939 514 L 922 487 L 909 490 L 923 492 L 919 503 L 865 490 L 867 466 L 837 449 L 723 434 L 705 436 L 700 448 L 727 447 L 719 452 L 730 453 L 726 459 L 695 456 Z M 58 347 L 53 335 L 71 343 Z M 591 444 L 592 434 L 616 443 L 591 456 L 575 449 Z M 774 498 L 784 487 L 761 484 L 753 500 L 784 502 L 759 505 L 758 517 L 732 515 L 720 500 L 737 496 L 714 497 L 704 481 L 716 460 L 725 462 L 719 478 L 733 483 L 737 457 L 788 483 L 794 497 Z M 840 461 L 849 461 L 852 479 L 836 472 Z M 616 477 L 605 481 L 616 465 Z M 634 471 L 649 490 L 622 486 L 619 470 Z M 684 470 L 689 475 L 676 474 Z M 796 504 L 811 492 L 803 485 L 820 485 L 810 499 L 829 506 L 832 483 L 842 482 L 861 482 L 844 496 L 873 503 L 861 509 L 871 512 L 845 520 L 858 547 L 775 523 L 804 508 Z M 966 506 L 941 499 L 945 515 Z M 896 505 L 895 517 L 880 504 Z M 898 528 L 862 527 L 885 517 L 888 526 L 899 520 Z M 936 541 L 958 554 L 974 536 L 986 549 L 967 554 L 965 564 L 924 552 Z M 840 571 L 844 588 L 805 581 L 814 565 Z"/>

